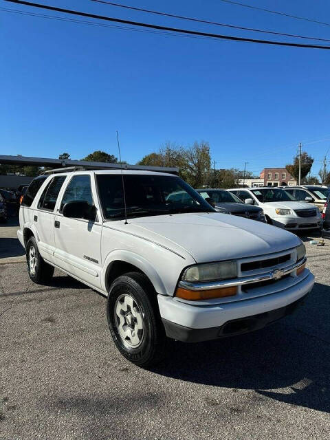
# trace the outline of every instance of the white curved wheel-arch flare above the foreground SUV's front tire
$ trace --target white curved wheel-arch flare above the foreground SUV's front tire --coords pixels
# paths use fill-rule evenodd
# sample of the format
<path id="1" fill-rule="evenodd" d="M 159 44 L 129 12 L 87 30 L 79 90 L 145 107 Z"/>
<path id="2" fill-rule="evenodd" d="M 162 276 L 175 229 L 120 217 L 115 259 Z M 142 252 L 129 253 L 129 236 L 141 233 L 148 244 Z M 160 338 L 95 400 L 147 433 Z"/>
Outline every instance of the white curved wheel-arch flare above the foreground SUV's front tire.
<path id="1" fill-rule="evenodd" d="M 153 267 L 153 265 L 148 260 L 144 259 L 143 256 L 141 256 L 140 254 L 136 254 L 135 252 L 120 249 L 109 252 L 106 259 L 104 260 L 103 270 L 101 272 L 101 283 L 102 288 L 105 292 L 107 292 L 107 270 L 109 265 L 111 265 L 113 261 L 124 261 L 125 263 L 134 265 L 142 272 L 144 272 L 146 276 L 148 276 L 157 294 L 167 294 L 166 287 L 162 282 L 162 279 L 155 270 L 155 267 Z"/>

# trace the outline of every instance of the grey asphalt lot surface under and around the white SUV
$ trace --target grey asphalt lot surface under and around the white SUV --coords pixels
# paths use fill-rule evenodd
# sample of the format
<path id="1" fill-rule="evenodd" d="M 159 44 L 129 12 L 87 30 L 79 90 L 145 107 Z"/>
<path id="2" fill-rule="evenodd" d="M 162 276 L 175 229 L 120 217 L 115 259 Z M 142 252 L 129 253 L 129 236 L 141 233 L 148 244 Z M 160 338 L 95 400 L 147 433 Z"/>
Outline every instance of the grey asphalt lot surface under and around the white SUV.
<path id="1" fill-rule="evenodd" d="M 296 314 L 245 336 L 169 341 L 151 370 L 115 349 L 98 293 L 0 265 L 0 439 L 329 439 L 330 240 L 308 239 L 316 285 Z"/>

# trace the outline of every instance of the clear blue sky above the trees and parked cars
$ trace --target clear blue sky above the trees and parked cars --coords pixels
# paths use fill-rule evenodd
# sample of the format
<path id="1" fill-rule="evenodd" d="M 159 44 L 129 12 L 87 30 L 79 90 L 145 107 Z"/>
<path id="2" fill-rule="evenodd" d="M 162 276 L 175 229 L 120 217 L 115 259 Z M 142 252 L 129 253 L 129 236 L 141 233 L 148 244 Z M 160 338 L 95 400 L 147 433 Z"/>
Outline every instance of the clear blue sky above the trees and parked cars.
<path id="1" fill-rule="evenodd" d="M 0 1 L 1 8 L 59 16 Z M 39 3 L 250 36 L 89 0 Z M 122 3 L 330 39 L 329 26 L 219 0 Z M 330 16 L 327 0 L 245 3 L 320 21 Z M 303 142 L 315 158 L 317 174 L 330 146 L 330 51 L 168 36 L 2 11 L 0 21 L 1 154 L 58 157 L 67 151 L 80 159 L 101 149 L 117 155 L 118 130 L 122 159 L 129 163 L 166 141 L 189 145 L 206 140 L 217 168 L 243 168 L 249 162 L 247 168 L 259 173 L 290 162 L 298 142 Z"/>

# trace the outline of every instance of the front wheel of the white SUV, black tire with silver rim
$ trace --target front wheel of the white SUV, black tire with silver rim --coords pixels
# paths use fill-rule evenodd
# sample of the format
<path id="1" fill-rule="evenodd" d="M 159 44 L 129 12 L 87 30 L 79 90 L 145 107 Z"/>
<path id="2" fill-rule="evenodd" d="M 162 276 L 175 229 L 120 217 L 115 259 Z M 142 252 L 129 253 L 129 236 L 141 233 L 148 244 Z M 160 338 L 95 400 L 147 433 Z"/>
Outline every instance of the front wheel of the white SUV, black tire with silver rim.
<path id="1" fill-rule="evenodd" d="M 135 330 L 138 321 L 132 314 L 131 318 L 133 317 L 132 319 L 135 322 L 129 321 L 130 325 L 127 324 L 128 315 L 131 311 L 130 306 L 126 305 L 126 298 L 128 297 L 133 298 L 133 304 L 135 305 L 133 309 L 137 312 L 137 315 L 134 316 L 142 316 L 143 330 Z M 121 300 L 123 300 L 122 303 Z M 127 309 L 126 314 L 122 317 L 126 322 L 124 326 L 120 325 L 121 320 L 115 313 L 117 307 L 126 307 Z M 120 310 L 121 312 L 122 310 Z M 129 272 L 113 281 L 107 299 L 107 318 L 113 342 L 115 342 L 124 358 L 133 364 L 144 367 L 155 365 L 164 358 L 166 336 L 159 316 L 157 294 L 144 274 Z M 129 337 L 127 340 L 123 339 L 120 329 L 124 327 L 127 331 L 131 331 L 131 335 L 137 335 L 140 331 L 139 336 L 137 336 L 140 342 L 137 346 L 132 345 Z"/>

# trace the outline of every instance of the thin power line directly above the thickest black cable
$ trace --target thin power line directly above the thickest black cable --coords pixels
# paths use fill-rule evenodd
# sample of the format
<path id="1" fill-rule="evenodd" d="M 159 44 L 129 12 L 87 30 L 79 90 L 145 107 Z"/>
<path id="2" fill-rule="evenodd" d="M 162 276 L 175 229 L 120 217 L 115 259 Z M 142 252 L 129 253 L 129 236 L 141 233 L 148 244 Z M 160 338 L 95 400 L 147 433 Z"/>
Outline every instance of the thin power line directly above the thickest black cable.
<path id="1" fill-rule="evenodd" d="M 163 17 L 172 17 L 175 19 L 181 19 L 181 20 L 188 20 L 188 21 L 195 21 L 197 23 L 206 23 L 209 25 L 216 25 L 216 26 L 223 26 L 225 28 L 233 28 L 233 29 L 239 29 L 239 30 L 248 30 L 250 32 L 262 32 L 263 34 L 272 34 L 272 35 L 281 35 L 281 36 L 292 36 L 297 39 L 306 39 L 306 40 L 317 40 L 317 41 L 330 41 L 329 39 L 320 39 L 316 38 L 314 36 L 303 36 L 303 35 L 297 35 L 297 34 L 284 34 L 283 32 L 274 32 L 270 30 L 264 30 L 264 29 L 255 29 L 255 28 L 244 28 L 243 26 L 236 26 L 236 25 L 230 25 L 228 23 L 219 23 L 217 21 L 208 21 L 203 19 L 195 19 L 192 17 L 185 17 L 181 15 L 175 15 L 175 14 L 169 14 L 167 12 L 160 12 L 150 9 L 142 9 L 142 8 L 135 8 L 135 6 L 128 6 L 128 5 L 121 5 L 120 3 L 113 3 L 112 1 L 105 1 L 105 0 L 91 0 L 96 3 L 103 3 L 106 5 L 115 6 L 118 8 L 124 8 L 129 10 L 135 10 L 140 12 L 147 12 L 148 14 L 156 14 L 156 15 L 162 15 Z"/>

